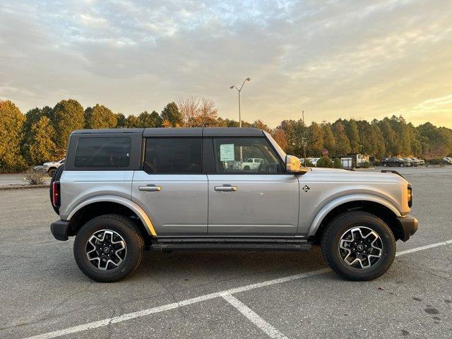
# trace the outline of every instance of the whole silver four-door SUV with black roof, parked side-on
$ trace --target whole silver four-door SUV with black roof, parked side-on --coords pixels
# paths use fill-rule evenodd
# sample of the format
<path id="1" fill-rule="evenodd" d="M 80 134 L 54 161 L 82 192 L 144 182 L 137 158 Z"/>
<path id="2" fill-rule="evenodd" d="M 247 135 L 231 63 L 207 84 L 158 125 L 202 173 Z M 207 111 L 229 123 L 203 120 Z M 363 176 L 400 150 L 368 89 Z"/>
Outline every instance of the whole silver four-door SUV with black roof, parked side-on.
<path id="1" fill-rule="evenodd" d="M 259 161 L 243 166 L 249 159 Z M 411 185 L 383 172 L 301 167 L 259 129 L 74 131 L 52 178 L 60 220 L 50 228 L 59 240 L 76 236 L 76 263 L 100 282 L 131 274 L 145 249 L 311 244 L 339 275 L 371 280 L 417 230 Z"/>

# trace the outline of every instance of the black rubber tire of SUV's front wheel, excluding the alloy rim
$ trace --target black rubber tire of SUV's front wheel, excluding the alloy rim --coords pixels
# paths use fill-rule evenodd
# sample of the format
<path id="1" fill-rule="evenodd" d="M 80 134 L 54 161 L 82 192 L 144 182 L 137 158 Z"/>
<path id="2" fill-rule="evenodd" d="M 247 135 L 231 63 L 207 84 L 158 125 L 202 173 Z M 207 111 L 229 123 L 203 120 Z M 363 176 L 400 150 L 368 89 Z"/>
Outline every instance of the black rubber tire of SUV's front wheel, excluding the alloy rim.
<path id="1" fill-rule="evenodd" d="M 381 258 L 370 268 L 353 268 L 341 258 L 340 237 L 352 227 L 364 226 L 376 232 L 383 245 Z M 321 251 L 328 266 L 347 280 L 373 280 L 386 272 L 396 256 L 396 239 L 386 222 L 371 213 L 350 211 L 335 217 L 323 232 Z"/>

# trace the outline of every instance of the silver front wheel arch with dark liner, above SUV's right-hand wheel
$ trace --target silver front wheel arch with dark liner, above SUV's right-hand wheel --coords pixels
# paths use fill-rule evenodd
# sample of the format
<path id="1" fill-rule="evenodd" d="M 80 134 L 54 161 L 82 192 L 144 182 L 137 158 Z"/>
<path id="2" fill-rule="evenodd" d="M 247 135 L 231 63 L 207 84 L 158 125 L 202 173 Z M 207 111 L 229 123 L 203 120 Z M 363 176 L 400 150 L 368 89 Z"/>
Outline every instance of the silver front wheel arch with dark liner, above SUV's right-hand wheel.
<path id="1" fill-rule="evenodd" d="M 381 218 L 391 228 L 396 239 L 399 239 L 400 232 L 403 232 L 397 219 L 402 215 L 396 206 L 378 196 L 355 195 L 337 198 L 323 206 L 314 218 L 307 237 L 319 242 L 329 220 L 349 210 L 363 210 Z"/>

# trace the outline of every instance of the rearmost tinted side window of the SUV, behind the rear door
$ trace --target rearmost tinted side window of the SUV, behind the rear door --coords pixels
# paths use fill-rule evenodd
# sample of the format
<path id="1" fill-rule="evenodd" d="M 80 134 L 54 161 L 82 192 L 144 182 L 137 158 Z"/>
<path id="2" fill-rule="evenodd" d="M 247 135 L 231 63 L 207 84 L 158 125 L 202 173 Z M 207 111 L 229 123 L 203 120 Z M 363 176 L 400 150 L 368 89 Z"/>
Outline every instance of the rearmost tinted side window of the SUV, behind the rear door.
<path id="1" fill-rule="evenodd" d="M 131 138 L 79 138 L 74 167 L 129 166 Z"/>

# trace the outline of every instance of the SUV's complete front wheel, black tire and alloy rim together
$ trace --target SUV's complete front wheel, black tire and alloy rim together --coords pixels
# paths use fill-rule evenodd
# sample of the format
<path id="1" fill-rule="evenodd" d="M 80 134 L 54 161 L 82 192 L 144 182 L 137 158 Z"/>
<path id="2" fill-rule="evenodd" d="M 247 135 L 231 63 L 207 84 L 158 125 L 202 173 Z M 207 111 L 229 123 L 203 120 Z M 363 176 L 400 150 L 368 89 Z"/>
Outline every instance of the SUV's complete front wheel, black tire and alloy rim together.
<path id="1" fill-rule="evenodd" d="M 347 280 L 373 280 L 386 272 L 396 256 L 396 239 L 383 220 L 354 211 L 335 217 L 323 233 L 326 263 Z"/>

